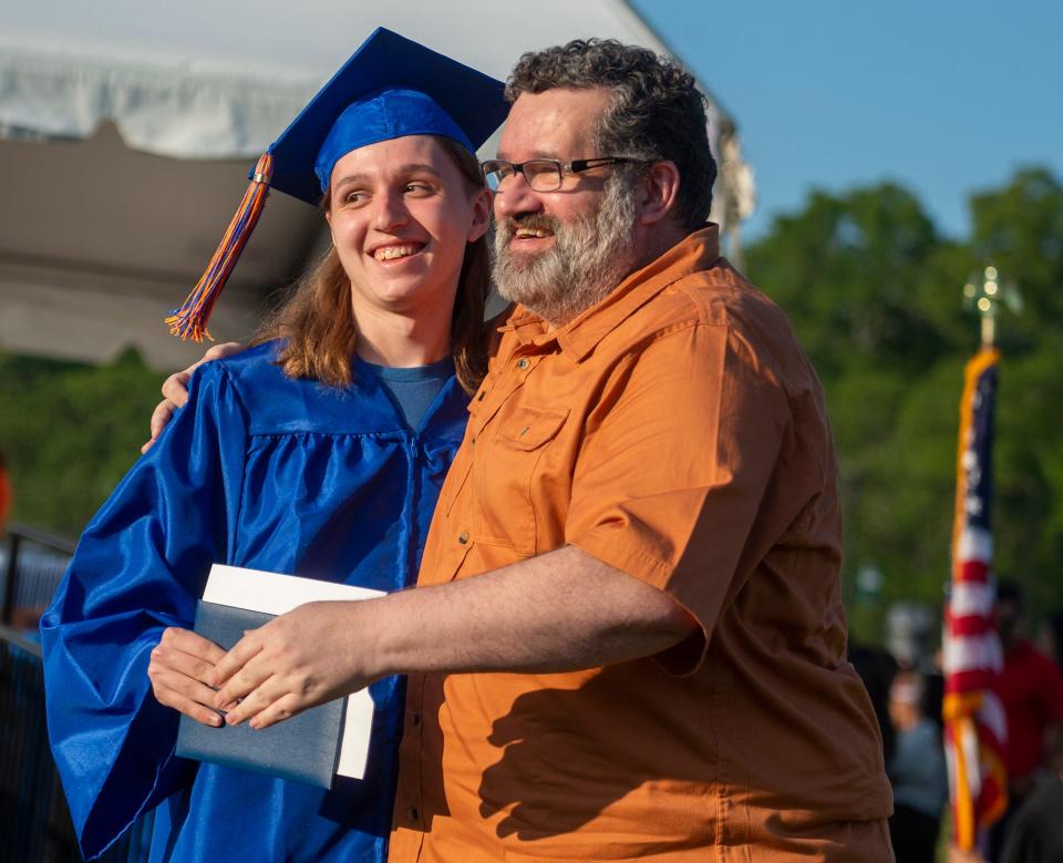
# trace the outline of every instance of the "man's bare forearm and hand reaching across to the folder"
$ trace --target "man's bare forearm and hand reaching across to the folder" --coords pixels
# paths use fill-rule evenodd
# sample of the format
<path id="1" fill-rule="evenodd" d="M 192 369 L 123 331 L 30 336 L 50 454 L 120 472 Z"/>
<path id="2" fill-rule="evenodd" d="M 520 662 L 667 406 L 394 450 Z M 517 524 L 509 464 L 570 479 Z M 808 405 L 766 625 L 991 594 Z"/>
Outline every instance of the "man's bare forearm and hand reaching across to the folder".
<path id="1" fill-rule="evenodd" d="M 230 725 L 265 728 L 388 675 L 570 671 L 650 656 L 698 629 L 664 592 L 566 546 L 446 585 L 301 606 L 218 664 L 216 703 L 234 708 Z"/>

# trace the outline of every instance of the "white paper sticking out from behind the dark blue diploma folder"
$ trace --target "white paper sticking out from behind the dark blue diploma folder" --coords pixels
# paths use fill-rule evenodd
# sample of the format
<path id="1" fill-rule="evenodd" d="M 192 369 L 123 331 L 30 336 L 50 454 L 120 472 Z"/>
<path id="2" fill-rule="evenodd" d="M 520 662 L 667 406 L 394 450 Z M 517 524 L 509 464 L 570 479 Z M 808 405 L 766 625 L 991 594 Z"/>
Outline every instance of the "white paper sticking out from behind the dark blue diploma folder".
<path id="1" fill-rule="evenodd" d="M 240 566 L 215 564 L 203 593 L 205 603 L 217 603 L 233 608 L 280 615 L 306 603 L 321 600 L 372 599 L 382 590 L 354 587 L 349 584 L 319 582 L 297 575 L 281 575 Z M 373 728 L 373 699 L 368 689 L 347 697 L 343 738 L 337 775 L 361 779 L 369 759 L 369 736 Z"/>

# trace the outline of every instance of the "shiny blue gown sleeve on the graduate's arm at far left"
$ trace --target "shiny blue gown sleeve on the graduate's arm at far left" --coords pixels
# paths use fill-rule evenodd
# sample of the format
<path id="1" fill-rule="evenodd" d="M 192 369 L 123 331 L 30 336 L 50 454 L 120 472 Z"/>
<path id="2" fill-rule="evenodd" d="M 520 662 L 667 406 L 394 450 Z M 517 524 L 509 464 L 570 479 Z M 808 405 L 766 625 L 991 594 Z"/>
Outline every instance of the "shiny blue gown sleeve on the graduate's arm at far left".
<path id="1" fill-rule="evenodd" d="M 244 405 L 207 363 L 89 523 L 41 618 L 49 739 L 86 857 L 194 777 L 147 665 L 165 627 L 192 627 L 210 565 L 228 562 L 246 452 Z"/>

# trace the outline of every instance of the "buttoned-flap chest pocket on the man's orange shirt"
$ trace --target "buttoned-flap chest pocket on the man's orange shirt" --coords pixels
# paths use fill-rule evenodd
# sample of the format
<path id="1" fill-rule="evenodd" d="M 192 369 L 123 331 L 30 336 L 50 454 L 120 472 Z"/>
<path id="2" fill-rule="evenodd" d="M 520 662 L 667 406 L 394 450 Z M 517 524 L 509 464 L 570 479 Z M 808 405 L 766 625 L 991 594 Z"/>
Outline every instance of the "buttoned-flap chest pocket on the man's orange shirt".
<path id="1" fill-rule="evenodd" d="M 541 542 L 551 521 L 551 501 L 561 492 L 554 444 L 568 414 L 568 409 L 522 405 L 484 429 L 475 444 L 475 540 L 507 545 L 522 555 L 545 551 L 537 540 Z"/>

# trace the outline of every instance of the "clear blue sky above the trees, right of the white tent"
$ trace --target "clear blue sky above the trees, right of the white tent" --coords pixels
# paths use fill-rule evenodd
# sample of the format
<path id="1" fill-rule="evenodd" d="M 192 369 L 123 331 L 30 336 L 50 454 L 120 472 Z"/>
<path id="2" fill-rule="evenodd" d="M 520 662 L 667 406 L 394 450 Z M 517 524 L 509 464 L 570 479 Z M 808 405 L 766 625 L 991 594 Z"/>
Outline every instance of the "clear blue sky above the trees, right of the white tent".
<path id="1" fill-rule="evenodd" d="M 755 237 L 811 188 L 883 179 L 962 235 L 1022 165 L 1063 178 L 1059 0 L 634 0 L 737 119 Z"/>

